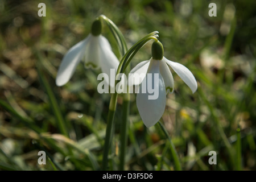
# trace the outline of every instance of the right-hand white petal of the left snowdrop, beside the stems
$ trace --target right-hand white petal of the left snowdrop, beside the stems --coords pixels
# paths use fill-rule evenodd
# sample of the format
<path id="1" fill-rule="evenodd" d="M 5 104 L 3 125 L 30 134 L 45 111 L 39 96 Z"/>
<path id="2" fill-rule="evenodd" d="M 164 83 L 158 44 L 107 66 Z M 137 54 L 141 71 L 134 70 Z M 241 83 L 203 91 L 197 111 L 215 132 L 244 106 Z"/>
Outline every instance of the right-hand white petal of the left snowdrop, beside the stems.
<path id="1" fill-rule="evenodd" d="M 100 67 L 103 73 L 108 75 L 108 78 L 104 78 L 108 85 L 114 88 L 115 84 L 115 73 L 119 65 L 119 61 L 115 54 L 113 53 L 108 40 L 100 35 Z M 112 69 L 112 72 L 111 72 Z"/>

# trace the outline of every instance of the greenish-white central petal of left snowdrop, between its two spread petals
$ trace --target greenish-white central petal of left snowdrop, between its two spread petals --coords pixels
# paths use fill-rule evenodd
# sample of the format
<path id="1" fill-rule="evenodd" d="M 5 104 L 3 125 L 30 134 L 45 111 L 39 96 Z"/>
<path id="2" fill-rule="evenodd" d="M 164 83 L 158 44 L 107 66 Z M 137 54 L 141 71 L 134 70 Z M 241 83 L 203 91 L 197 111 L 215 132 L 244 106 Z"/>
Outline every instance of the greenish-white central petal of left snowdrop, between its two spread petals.
<path id="1" fill-rule="evenodd" d="M 86 68 L 97 69 L 100 65 L 100 36 L 90 34 L 90 40 L 85 48 L 84 65 Z"/>

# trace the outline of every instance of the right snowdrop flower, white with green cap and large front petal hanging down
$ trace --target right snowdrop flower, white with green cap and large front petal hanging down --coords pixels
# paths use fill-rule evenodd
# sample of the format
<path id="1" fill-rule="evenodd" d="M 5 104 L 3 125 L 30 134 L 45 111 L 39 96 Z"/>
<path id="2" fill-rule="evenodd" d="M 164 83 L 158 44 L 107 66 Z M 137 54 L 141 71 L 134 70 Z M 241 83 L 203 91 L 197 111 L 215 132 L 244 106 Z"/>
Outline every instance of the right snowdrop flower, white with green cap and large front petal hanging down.
<path id="1" fill-rule="evenodd" d="M 164 113 L 164 109 L 166 106 L 166 94 L 174 92 L 174 78 L 172 77 L 172 73 L 168 68 L 168 65 L 174 69 L 174 71 L 179 75 L 179 77 L 189 86 L 192 90 L 192 93 L 196 92 L 197 82 L 191 71 L 186 68 L 184 65 L 180 63 L 176 63 L 166 59 L 163 56 L 163 46 L 162 43 L 154 42 L 152 44 L 152 57 L 150 60 L 142 61 L 138 65 L 136 65 L 130 73 L 137 73 L 136 75 L 144 75 L 144 78 L 134 77 L 134 85 L 139 85 L 139 90 L 142 90 L 142 85 L 146 84 L 148 74 L 152 73 L 152 77 L 154 78 L 154 74 L 158 73 L 158 80 L 152 80 L 152 85 L 158 90 L 158 98 L 155 100 L 148 99 L 150 96 L 149 92 L 142 93 L 141 91 L 137 93 L 137 107 L 139 110 L 139 114 L 141 115 L 142 121 L 144 125 L 147 127 L 151 127 L 155 125 L 159 119 L 162 117 Z M 132 78 L 132 77 L 131 77 Z M 147 82 L 148 84 L 148 82 Z"/>

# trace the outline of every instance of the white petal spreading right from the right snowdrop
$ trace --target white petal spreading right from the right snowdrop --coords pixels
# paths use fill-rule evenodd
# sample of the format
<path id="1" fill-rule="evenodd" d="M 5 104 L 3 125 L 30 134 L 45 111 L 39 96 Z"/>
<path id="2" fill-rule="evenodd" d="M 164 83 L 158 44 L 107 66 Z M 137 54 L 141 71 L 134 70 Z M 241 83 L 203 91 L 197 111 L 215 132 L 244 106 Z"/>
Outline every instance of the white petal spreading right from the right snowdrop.
<path id="1" fill-rule="evenodd" d="M 174 69 L 177 75 L 179 75 L 179 77 L 185 82 L 185 84 L 189 86 L 192 92 L 195 93 L 197 89 L 197 82 L 191 71 L 189 71 L 189 69 L 184 65 L 176 63 L 174 61 L 170 61 L 165 57 L 163 57 L 163 60 L 166 61 L 166 63 L 170 65 L 172 69 Z"/>

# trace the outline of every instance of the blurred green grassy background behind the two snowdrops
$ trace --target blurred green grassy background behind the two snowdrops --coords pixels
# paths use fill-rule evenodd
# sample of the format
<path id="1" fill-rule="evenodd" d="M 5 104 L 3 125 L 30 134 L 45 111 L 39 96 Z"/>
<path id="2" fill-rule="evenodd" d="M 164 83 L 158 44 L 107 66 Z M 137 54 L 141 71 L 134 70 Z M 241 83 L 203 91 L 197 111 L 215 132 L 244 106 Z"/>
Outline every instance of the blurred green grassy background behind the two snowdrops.
<path id="1" fill-rule="evenodd" d="M 159 31 L 164 56 L 195 75 L 195 94 L 174 73 L 160 122 L 184 170 L 255 170 L 256 2 L 249 1 L 0 1 L 0 169 L 95 170 L 101 166 L 110 95 L 97 92 L 98 70 L 80 64 L 68 84 L 55 77 L 64 54 L 104 14 L 130 48 Z M 217 16 L 209 16 L 216 3 Z M 118 55 L 108 26 L 102 34 Z M 131 62 L 151 57 L 147 44 Z M 125 169 L 174 170 L 166 137 L 147 129 L 131 95 Z M 118 97 L 109 169 L 118 169 L 122 97 Z M 46 151 L 46 165 L 38 152 Z M 217 164 L 208 163 L 216 151 Z"/>

